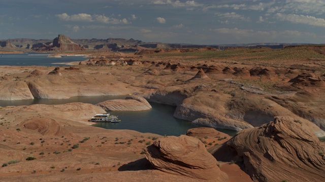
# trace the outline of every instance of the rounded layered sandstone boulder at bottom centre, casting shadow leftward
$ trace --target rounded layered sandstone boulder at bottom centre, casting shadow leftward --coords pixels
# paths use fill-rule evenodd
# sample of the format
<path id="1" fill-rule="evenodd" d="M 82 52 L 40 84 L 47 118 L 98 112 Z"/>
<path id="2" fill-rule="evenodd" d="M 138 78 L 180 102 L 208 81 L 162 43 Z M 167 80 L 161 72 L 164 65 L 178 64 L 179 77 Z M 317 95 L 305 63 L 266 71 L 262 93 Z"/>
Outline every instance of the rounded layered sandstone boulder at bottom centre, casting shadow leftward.
<path id="1" fill-rule="evenodd" d="M 228 180 L 197 138 L 186 135 L 159 138 L 144 152 L 153 167 L 161 171 L 210 181 Z"/>

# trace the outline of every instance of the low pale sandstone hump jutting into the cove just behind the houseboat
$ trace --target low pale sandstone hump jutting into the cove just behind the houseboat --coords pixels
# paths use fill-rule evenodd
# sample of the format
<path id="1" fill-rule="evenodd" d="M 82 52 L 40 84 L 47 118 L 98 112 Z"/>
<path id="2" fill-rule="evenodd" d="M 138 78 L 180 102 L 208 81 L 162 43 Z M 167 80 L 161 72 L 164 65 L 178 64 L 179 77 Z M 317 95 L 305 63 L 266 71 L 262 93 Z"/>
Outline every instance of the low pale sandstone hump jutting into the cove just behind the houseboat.
<path id="1" fill-rule="evenodd" d="M 115 99 L 96 104 L 107 111 L 143 111 L 151 109 L 147 100 L 140 96 L 126 96 L 125 100 Z"/>

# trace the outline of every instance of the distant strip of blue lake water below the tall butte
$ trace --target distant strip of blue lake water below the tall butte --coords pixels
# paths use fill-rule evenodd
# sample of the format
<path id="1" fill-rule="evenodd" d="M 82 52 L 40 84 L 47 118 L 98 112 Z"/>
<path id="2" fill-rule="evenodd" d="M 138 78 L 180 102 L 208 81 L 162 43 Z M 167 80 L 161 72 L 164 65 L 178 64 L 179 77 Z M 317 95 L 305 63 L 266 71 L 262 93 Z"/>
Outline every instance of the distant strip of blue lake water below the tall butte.
<path id="1" fill-rule="evenodd" d="M 62 58 L 48 58 L 49 54 L 26 53 L 26 54 L 0 54 L 0 65 L 7 66 L 60 66 L 62 64 L 75 61 L 84 61 L 83 56 L 63 56 Z"/>

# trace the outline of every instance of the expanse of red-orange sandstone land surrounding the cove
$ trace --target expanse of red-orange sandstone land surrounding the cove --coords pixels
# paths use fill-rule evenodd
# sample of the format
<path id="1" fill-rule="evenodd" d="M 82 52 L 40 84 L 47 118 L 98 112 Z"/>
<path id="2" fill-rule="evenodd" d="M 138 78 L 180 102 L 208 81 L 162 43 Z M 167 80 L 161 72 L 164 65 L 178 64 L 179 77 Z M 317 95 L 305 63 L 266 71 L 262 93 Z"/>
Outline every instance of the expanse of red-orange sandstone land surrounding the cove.
<path id="1" fill-rule="evenodd" d="M 0 180 L 325 180 L 317 138 L 325 136 L 325 47 L 144 48 L 79 50 L 91 56 L 74 66 L 0 66 L 0 102 L 128 95 L 1 107 Z M 148 102 L 176 106 L 174 117 L 208 128 L 164 137 L 87 121 L 106 110 L 150 109 Z"/>

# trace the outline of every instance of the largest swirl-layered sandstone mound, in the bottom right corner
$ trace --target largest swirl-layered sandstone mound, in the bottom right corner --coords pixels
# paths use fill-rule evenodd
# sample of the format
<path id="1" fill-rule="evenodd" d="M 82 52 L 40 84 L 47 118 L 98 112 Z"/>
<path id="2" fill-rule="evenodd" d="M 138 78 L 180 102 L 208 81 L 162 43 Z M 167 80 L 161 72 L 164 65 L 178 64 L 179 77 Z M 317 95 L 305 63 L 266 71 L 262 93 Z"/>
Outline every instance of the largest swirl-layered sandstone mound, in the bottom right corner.
<path id="1" fill-rule="evenodd" d="M 219 161 L 242 164 L 255 181 L 325 180 L 325 144 L 304 123 L 288 116 L 242 130 L 209 151 Z"/>

